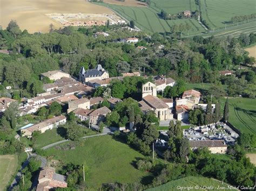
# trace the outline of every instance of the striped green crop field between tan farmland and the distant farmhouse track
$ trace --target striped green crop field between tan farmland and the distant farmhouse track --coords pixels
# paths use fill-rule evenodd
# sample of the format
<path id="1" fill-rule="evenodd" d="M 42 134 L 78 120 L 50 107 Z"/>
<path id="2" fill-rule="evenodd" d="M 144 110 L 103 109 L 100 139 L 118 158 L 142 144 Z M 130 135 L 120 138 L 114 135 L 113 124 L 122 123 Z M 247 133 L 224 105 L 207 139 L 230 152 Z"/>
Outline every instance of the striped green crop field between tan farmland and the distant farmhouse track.
<path id="1" fill-rule="evenodd" d="M 97 3 L 99 5 L 107 6 L 112 10 L 116 11 L 120 16 L 126 18 L 127 20 L 134 20 L 135 25 L 140 29 L 147 32 L 170 32 L 171 26 L 174 24 L 189 24 L 191 26 L 190 31 L 185 32 L 184 36 L 198 34 L 204 32 L 205 30 L 197 22 L 196 19 L 179 19 L 179 20 L 164 20 L 159 18 L 158 14 L 160 10 L 158 8 L 149 7 L 134 7 L 134 6 L 120 6 L 115 4 Z"/>

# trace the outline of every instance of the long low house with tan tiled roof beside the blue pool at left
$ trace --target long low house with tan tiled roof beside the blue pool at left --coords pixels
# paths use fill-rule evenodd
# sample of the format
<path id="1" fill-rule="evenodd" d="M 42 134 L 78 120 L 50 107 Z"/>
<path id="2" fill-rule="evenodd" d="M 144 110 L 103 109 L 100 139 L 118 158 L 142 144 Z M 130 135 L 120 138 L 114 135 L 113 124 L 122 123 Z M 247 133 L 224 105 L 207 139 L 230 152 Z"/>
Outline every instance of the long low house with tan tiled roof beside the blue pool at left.
<path id="1" fill-rule="evenodd" d="M 28 128 L 21 129 L 22 136 L 31 137 L 32 132 L 41 131 L 44 133 L 46 130 L 57 127 L 59 124 L 65 124 L 66 117 L 63 115 L 56 116 L 50 119 L 46 119 L 45 121 L 39 122 L 35 125 L 29 126 Z"/>

